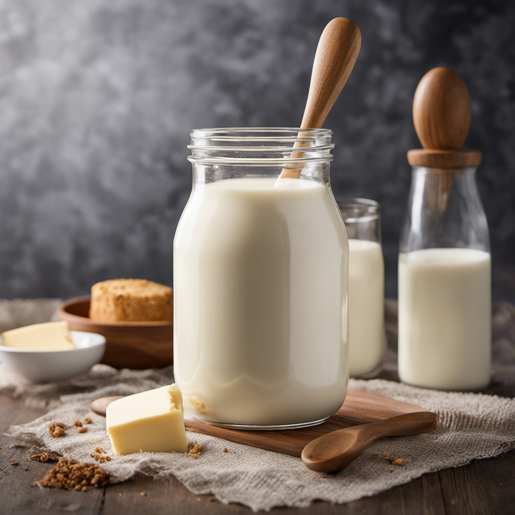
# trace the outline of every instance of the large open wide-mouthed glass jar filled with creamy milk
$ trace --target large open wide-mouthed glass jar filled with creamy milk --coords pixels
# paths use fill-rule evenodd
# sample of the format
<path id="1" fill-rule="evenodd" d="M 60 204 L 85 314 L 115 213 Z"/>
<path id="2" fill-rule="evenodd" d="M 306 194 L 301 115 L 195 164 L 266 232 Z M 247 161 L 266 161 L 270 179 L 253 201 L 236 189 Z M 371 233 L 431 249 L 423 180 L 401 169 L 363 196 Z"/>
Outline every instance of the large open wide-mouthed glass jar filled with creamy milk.
<path id="1" fill-rule="evenodd" d="M 175 380 L 190 413 L 283 428 L 336 413 L 348 383 L 344 225 L 327 129 L 191 132 L 174 239 Z M 302 146 L 290 157 L 294 144 Z M 283 168 L 299 179 L 279 179 Z"/>

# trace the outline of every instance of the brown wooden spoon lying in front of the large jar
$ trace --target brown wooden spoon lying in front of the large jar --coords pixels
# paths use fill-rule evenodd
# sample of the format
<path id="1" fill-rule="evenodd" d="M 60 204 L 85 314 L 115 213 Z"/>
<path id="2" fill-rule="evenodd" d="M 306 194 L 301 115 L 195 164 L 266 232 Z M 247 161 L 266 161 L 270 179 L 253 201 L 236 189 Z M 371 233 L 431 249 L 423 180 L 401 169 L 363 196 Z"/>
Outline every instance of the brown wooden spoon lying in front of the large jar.
<path id="1" fill-rule="evenodd" d="M 308 443 L 302 461 L 316 472 L 335 472 L 354 461 L 373 441 L 384 436 L 417 435 L 433 431 L 436 415 L 419 411 L 398 415 L 379 422 L 346 427 Z"/>

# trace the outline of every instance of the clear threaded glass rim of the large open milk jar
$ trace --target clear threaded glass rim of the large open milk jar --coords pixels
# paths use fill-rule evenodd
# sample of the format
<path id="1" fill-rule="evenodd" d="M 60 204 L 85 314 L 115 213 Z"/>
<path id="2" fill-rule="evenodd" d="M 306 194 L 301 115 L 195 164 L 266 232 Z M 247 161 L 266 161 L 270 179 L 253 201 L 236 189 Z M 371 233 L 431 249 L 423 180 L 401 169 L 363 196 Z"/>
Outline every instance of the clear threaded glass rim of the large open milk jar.
<path id="1" fill-rule="evenodd" d="M 190 132 L 188 160 L 205 164 L 278 166 L 332 160 L 332 130 L 296 127 L 226 127 Z M 292 151 L 295 154 L 292 156 Z"/>

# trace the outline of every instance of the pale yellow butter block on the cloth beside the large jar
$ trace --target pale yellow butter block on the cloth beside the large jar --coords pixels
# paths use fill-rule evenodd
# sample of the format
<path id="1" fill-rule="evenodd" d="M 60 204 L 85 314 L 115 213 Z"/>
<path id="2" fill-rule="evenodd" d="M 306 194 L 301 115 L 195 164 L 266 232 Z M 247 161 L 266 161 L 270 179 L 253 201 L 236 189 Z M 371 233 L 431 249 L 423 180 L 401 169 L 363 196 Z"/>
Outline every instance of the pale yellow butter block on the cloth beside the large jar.
<path id="1" fill-rule="evenodd" d="M 182 393 L 176 384 L 112 402 L 106 425 L 116 454 L 186 452 L 188 448 Z"/>

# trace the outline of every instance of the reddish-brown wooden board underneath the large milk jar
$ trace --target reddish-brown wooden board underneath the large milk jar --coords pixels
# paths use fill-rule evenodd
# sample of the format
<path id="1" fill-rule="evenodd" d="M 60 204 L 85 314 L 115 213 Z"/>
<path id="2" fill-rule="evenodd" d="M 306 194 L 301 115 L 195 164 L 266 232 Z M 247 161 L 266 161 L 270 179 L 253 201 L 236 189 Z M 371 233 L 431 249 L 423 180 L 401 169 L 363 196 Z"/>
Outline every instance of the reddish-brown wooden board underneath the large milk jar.
<path id="1" fill-rule="evenodd" d="M 389 399 L 377 393 L 352 389 L 347 391 L 344 404 L 329 420 L 323 424 L 303 429 L 242 431 L 187 419 L 184 420 L 184 424 L 187 430 L 195 433 L 217 436 L 224 440 L 243 443 L 268 451 L 300 456 L 305 445 L 331 431 L 368 422 L 377 422 L 408 413 L 420 413 L 421 422 L 424 422 L 420 433 L 428 433 L 436 427 L 436 414 L 427 409 Z"/>

